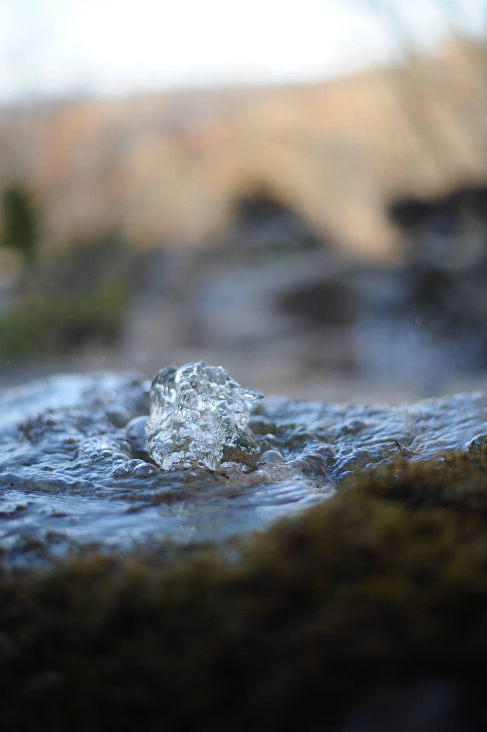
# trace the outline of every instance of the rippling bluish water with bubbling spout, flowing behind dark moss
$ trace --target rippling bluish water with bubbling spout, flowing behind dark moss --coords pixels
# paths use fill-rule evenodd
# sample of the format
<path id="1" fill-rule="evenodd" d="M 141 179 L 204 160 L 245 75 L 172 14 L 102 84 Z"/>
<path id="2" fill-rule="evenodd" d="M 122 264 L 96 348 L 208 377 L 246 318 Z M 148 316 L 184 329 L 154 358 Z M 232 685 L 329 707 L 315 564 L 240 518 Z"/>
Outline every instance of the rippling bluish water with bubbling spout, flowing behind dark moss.
<path id="1" fill-rule="evenodd" d="M 138 373 L 53 376 L 0 392 L 0 546 L 218 541 L 325 500 L 399 449 L 420 460 L 484 433 L 480 392 L 399 406 L 262 398 L 201 362 L 152 387 Z"/>

